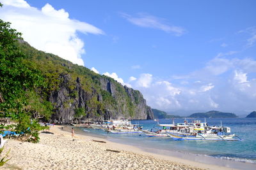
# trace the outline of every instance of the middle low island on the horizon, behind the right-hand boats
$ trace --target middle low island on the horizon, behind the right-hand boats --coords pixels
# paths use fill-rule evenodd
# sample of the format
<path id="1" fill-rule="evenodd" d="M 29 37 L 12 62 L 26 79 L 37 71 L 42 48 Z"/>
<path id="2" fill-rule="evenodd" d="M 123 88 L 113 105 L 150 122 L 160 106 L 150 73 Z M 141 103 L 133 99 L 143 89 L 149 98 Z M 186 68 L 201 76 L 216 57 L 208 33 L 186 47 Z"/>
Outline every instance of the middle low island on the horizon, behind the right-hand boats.
<path id="1" fill-rule="evenodd" d="M 193 113 L 189 117 L 191 118 L 236 118 L 234 113 L 225 113 L 221 111 L 208 111 L 205 113 Z"/>

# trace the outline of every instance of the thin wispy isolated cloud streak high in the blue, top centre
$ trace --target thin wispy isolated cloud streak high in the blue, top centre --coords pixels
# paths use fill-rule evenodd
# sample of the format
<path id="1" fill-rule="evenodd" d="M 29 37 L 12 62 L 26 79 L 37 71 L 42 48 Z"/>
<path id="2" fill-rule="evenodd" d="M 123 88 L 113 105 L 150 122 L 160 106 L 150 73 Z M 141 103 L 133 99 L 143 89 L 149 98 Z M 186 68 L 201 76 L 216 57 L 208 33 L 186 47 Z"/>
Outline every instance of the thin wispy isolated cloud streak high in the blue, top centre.
<path id="1" fill-rule="evenodd" d="M 138 13 L 137 17 L 132 17 L 131 15 L 128 15 L 126 13 L 121 13 L 120 15 L 132 24 L 138 25 L 140 27 L 159 29 L 161 31 L 174 34 L 175 36 L 181 36 L 186 32 L 186 30 L 182 27 L 166 23 L 166 20 L 164 18 L 154 17 L 146 13 Z"/>

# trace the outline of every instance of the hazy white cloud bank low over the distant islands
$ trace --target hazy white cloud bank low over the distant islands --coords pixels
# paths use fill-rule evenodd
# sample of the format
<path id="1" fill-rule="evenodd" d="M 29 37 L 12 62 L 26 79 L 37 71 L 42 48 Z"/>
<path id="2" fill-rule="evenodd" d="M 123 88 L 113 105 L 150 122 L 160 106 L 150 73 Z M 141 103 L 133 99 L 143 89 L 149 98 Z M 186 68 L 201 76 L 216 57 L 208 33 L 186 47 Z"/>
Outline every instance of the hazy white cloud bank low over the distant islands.
<path id="1" fill-rule="evenodd" d="M 149 106 L 159 110 L 216 109 L 239 114 L 256 110 L 255 73 L 255 59 L 216 57 L 198 71 L 176 76 L 188 83 L 159 81 L 152 74 L 141 74 L 131 85 L 141 91 Z"/>

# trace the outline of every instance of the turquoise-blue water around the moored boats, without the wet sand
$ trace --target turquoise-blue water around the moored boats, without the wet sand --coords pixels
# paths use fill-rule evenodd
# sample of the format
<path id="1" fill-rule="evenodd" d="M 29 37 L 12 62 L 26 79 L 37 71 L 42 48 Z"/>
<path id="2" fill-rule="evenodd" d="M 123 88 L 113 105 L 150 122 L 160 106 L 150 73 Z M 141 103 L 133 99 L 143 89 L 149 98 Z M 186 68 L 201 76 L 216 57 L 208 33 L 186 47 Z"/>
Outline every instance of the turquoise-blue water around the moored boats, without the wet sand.
<path id="1" fill-rule="evenodd" d="M 184 119 L 175 119 L 174 121 L 175 123 L 183 122 Z M 204 118 L 201 121 L 204 122 Z M 133 120 L 132 124 L 135 122 Z M 207 118 L 206 122 L 209 125 L 220 125 L 222 122 L 223 126 L 230 127 L 231 133 L 242 138 L 242 141 L 174 141 L 171 138 L 148 137 L 144 134 L 108 134 L 101 130 L 83 130 L 110 141 L 140 148 L 204 155 L 236 162 L 248 162 L 256 166 L 256 118 Z M 157 128 L 157 122 L 154 120 L 139 120 L 139 123 L 143 129 Z M 159 124 L 170 123 L 172 123 L 171 119 L 159 120 Z"/>

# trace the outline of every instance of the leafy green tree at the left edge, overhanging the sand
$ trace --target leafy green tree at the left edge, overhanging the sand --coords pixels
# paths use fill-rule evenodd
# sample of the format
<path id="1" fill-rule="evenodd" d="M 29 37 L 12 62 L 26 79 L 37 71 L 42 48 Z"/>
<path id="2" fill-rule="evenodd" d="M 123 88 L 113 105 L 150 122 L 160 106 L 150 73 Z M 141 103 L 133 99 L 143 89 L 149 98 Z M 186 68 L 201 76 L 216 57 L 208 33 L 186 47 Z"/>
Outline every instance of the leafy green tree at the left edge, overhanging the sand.
<path id="1" fill-rule="evenodd" d="M 0 20 L 0 92 L 4 97 L 4 103 L 0 104 L 1 116 L 12 117 L 17 122 L 12 130 L 20 137 L 38 142 L 39 131 L 44 127 L 32 118 L 49 118 L 52 106 L 45 101 L 42 72 L 26 60 L 26 55 L 17 46 L 17 39 L 22 41 L 20 35 L 9 22 Z"/>

